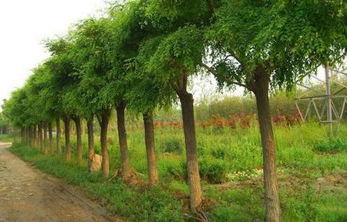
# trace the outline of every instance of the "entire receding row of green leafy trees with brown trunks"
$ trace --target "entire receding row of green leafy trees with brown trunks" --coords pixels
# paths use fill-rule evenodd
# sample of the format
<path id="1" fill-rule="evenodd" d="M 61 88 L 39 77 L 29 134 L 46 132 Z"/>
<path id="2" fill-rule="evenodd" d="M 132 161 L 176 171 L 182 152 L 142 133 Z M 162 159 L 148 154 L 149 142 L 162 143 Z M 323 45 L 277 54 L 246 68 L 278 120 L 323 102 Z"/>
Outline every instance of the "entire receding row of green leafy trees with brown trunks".
<path id="1" fill-rule="evenodd" d="M 101 18 L 78 22 L 69 34 L 48 41 L 51 56 L 13 92 L 4 113 L 30 141 L 50 140 L 64 121 L 65 155 L 71 160 L 70 120 L 76 125 L 82 161 L 80 121 L 87 121 L 94 154 L 93 120 L 101 127 L 102 172 L 109 176 L 108 120 L 115 109 L 122 178 L 131 174 L 125 109 L 142 113 L 148 176 L 158 181 L 153 111 L 176 99 L 181 105 L 190 207 L 201 206 L 193 97 L 194 75 L 213 74 L 220 88 L 241 85 L 257 102 L 264 156 L 267 221 L 280 221 L 275 142 L 269 91 L 291 88 L 317 67 L 341 62 L 347 46 L 347 4 L 337 1 L 134 0 L 114 4 Z M 48 136 L 46 130 L 48 129 Z M 27 133 L 25 133 L 27 132 Z M 43 137 L 43 138 L 42 138 Z M 31 142 L 32 144 L 33 142 Z M 45 142 L 43 142 L 45 144 Z M 47 148 L 43 148 L 48 153 Z"/>

